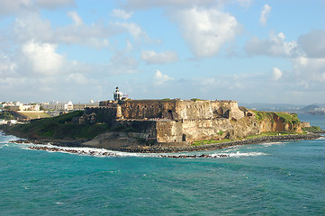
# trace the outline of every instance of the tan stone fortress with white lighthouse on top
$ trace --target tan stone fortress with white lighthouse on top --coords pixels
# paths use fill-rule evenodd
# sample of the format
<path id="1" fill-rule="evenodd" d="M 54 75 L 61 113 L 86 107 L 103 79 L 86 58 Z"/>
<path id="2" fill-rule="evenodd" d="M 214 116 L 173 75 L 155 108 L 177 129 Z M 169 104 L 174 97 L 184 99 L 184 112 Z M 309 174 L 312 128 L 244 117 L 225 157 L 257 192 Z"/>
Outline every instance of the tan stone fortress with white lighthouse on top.
<path id="1" fill-rule="evenodd" d="M 100 102 L 98 108 L 86 109 L 85 114 L 93 115 L 97 122 L 105 122 L 110 127 L 133 129 L 128 136 L 157 143 L 191 144 L 203 139 L 232 139 L 239 134 L 231 122 L 252 115 L 239 110 L 235 101 L 131 100 L 123 97 L 118 87 L 113 97 L 113 101 Z"/>

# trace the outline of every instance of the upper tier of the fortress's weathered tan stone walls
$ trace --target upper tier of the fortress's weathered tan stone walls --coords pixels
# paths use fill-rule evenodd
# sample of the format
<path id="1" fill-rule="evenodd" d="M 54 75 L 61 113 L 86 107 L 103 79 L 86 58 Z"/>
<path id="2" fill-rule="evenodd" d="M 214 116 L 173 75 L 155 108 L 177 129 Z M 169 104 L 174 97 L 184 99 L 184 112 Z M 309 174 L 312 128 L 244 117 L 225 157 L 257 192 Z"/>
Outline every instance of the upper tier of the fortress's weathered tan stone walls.
<path id="1" fill-rule="evenodd" d="M 104 101 L 100 107 L 112 109 L 117 119 L 167 119 L 172 121 L 240 119 L 244 116 L 235 101 L 135 100 Z"/>

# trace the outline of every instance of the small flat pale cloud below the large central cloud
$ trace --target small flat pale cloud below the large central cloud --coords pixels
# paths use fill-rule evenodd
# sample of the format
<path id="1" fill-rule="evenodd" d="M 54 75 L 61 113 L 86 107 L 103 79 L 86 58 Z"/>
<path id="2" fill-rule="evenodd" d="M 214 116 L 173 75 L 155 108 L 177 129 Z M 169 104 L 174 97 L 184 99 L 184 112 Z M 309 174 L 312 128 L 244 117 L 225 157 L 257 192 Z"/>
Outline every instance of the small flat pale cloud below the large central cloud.
<path id="1" fill-rule="evenodd" d="M 176 52 L 166 51 L 156 53 L 152 50 L 142 50 L 141 59 L 146 61 L 147 64 L 166 64 L 178 61 L 178 55 Z"/>

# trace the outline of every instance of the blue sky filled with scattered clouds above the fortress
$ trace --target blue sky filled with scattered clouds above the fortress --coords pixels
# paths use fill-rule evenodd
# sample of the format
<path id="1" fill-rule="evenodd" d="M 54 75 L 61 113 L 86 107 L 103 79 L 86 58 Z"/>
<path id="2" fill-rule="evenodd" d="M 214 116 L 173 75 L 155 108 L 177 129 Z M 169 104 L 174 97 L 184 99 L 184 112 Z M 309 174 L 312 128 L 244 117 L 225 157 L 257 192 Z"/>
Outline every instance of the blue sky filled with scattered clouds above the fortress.
<path id="1" fill-rule="evenodd" d="M 324 0 L 0 5 L 0 101 L 325 103 Z"/>

